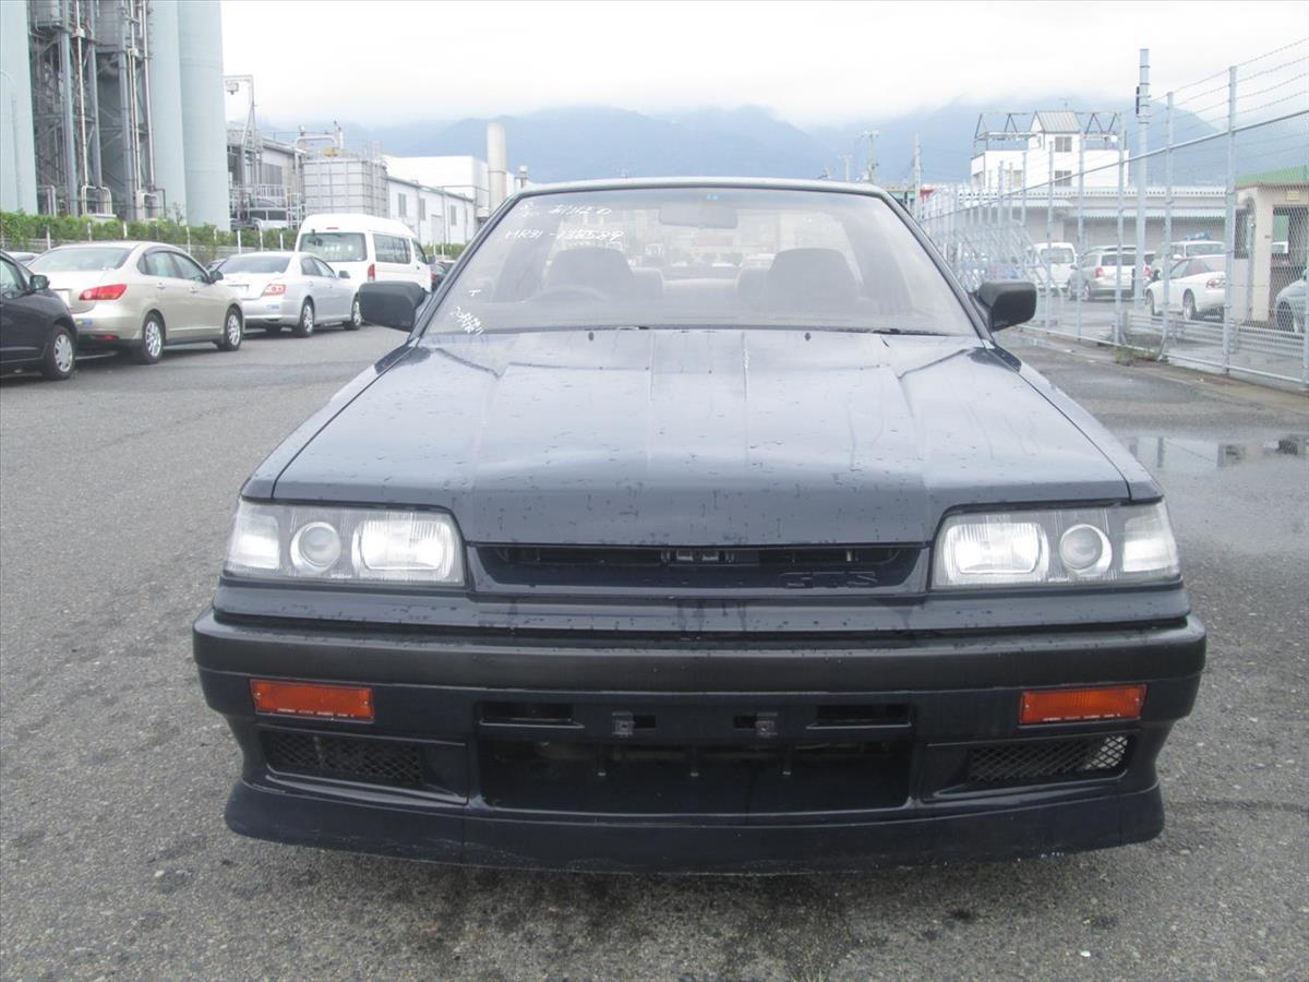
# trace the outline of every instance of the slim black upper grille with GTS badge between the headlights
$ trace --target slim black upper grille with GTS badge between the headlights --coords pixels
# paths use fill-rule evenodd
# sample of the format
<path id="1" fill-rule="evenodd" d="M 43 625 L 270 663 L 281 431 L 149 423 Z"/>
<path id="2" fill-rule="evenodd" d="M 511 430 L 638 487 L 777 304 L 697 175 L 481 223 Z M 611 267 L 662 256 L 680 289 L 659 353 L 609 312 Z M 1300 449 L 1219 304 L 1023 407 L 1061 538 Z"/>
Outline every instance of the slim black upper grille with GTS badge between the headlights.
<path id="1" fill-rule="evenodd" d="M 918 546 L 480 546 L 504 585 L 689 589 L 877 588 L 902 584 Z"/>

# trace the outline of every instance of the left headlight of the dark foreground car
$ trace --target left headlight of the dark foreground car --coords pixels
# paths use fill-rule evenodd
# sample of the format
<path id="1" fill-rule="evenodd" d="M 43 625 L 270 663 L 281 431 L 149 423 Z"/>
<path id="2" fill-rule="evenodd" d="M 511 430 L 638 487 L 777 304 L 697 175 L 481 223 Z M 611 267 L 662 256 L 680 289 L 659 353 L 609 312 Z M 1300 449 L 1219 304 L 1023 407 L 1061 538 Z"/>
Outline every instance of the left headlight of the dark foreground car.
<path id="1" fill-rule="evenodd" d="M 241 501 L 224 571 L 263 579 L 461 585 L 463 542 L 442 512 Z"/>

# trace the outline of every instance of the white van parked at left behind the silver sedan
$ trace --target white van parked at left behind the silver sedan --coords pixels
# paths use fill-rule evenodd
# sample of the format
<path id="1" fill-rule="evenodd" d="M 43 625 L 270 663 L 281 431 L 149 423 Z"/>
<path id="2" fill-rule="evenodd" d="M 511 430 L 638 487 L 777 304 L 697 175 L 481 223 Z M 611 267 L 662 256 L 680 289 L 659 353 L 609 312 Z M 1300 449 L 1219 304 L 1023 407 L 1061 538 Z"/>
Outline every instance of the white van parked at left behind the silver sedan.
<path id="1" fill-rule="evenodd" d="M 427 254 L 401 221 L 373 215 L 310 215 L 300 225 L 296 251 L 310 253 L 356 289 L 372 280 L 416 283 L 432 288 Z"/>

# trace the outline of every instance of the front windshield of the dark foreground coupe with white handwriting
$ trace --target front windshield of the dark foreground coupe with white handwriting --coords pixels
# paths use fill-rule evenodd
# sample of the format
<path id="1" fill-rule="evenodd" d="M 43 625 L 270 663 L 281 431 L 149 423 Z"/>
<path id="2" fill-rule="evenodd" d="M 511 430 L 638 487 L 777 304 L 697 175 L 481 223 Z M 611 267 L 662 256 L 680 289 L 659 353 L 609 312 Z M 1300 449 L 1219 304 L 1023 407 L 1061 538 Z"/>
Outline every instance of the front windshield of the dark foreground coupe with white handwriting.
<path id="1" fill-rule="evenodd" d="M 975 336 L 885 202 L 802 189 L 524 196 L 427 323 L 428 334 L 694 326 Z"/>

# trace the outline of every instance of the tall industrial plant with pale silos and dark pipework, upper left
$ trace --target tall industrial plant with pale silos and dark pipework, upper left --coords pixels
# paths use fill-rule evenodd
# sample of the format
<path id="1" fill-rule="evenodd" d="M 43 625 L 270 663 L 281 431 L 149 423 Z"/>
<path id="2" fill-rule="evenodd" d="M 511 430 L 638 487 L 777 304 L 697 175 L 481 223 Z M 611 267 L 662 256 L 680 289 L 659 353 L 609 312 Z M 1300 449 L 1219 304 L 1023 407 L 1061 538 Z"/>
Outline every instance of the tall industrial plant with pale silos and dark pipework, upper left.
<path id="1" fill-rule="evenodd" d="M 0 1 L 0 207 L 228 227 L 219 0 Z"/>

